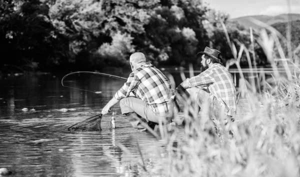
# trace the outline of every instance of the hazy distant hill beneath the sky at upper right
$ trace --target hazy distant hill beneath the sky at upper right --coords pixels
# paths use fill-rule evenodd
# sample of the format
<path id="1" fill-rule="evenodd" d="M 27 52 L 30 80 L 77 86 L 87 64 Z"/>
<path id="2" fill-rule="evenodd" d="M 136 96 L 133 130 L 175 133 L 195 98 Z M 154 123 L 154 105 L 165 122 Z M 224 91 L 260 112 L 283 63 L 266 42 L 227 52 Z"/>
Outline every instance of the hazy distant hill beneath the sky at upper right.
<path id="1" fill-rule="evenodd" d="M 298 13 L 291 13 L 291 20 L 300 20 L 300 14 Z M 252 16 L 241 16 L 237 18 L 233 18 L 232 20 L 237 21 L 239 24 L 243 25 L 245 28 L 253 27 L 253 28 L 260 28 L 259 25 L 253 23 L 250 19 L 258 19 L 268 25 L 272 25 L 275 23 L 287 22 L 288 15 L 287 14 L 280 14 L 276 16 L 269 16 L 269 15 L 252 15 Z"/>

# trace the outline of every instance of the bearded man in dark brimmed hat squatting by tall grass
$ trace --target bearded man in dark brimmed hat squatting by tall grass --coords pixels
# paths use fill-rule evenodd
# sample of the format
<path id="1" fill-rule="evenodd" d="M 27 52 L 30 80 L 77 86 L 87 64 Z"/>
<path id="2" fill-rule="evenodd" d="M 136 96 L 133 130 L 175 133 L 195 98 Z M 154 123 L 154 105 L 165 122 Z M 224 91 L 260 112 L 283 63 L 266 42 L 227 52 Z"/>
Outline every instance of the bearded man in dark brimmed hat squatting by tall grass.
<path id="1" fill-rule="evenodd" d="M 176 97 L 183 100 L 180 94 L 187 92 L 200 108 L 208 103 L 211 119 L 218 119 L 220 115 L 232 117 L 236 111 L 236 90 L 233 76 L 222 65 L 220 51 L 205 47 L 197 54 L 201 54 L 202 72 L 181 82 L 176 88 L 179 91 Z"/>

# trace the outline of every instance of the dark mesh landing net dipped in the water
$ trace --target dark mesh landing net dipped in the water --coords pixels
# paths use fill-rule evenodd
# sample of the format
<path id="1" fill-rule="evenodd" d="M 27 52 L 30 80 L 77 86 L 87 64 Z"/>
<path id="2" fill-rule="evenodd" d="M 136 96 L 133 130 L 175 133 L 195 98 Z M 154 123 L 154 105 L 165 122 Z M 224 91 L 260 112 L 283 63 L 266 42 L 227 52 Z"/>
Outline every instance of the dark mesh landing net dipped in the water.
<path id="1" fill-rule="evenodd" d="M 72 126 L 68 127 L 68 130 L 79 130 L 79 131 L 99 131 L 101 130 L 101 118 L 102 114 L 91 116 L 83 121 L 80 121 Z"/>

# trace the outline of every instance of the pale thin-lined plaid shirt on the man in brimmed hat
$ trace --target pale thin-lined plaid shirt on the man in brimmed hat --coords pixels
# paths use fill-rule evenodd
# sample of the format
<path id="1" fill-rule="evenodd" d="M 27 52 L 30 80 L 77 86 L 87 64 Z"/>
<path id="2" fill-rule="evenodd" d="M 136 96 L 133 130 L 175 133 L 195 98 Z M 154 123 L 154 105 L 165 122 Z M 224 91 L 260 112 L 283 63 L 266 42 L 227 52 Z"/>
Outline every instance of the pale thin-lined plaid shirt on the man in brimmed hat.
<path id="1" fill-rule="evenodd" d="M 236 90 L 233 76 L 219 63 L 214 63 L 199 75 L 187 79 L 189 87 L 206 85 L 211 94 L 227 107 L 228 115 L 236 111 Z"/>

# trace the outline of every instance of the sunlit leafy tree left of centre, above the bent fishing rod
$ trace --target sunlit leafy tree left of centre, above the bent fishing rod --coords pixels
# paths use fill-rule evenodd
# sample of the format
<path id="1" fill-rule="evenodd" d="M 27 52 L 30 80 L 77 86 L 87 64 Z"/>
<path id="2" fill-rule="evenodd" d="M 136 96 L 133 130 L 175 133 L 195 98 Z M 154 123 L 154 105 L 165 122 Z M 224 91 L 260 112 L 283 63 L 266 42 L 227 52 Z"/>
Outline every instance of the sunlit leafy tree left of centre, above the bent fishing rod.
<path id="1" fill-rule="evenodd" d="M 127 42 L 128 48 L 121 50 L 119 61 L 125 60 L 131 45 L 132 33 L 144 32 L 148 11 L 158 0 L 56 0 L 50 7 L 50 17 L 57 30 L 69 39 L 74 54 L 82 51 L 97 52 L 107 58 L 108 49 L 120 46 L 116 42 Z M 128 36 L 124 40 L 116 39 Z M 114 38 L 114 40 L 113 40 Z M 114 43 L 111 43 L 114 42 Z M 111 55 L 115 58 L 115 55 Z"/>

